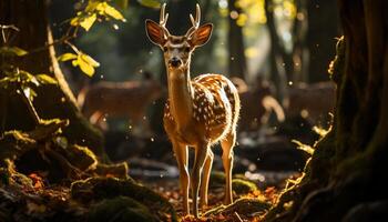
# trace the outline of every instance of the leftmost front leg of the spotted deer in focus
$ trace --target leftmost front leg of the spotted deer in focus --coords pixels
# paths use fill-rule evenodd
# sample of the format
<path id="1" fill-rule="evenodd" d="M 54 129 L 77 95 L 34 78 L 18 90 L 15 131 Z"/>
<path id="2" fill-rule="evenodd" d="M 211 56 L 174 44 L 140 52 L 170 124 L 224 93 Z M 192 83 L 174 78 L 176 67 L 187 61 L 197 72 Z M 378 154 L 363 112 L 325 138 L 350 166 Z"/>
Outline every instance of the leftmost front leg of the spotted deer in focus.
<path id="1" fill-rule="evenodd" d="M 190 214 L 188 209 L 188 171 L 187 171 L 187 147 L 173 140 L 173 149 L 180 170 L 180 186 L 183 194 L 183 211 Z"/>

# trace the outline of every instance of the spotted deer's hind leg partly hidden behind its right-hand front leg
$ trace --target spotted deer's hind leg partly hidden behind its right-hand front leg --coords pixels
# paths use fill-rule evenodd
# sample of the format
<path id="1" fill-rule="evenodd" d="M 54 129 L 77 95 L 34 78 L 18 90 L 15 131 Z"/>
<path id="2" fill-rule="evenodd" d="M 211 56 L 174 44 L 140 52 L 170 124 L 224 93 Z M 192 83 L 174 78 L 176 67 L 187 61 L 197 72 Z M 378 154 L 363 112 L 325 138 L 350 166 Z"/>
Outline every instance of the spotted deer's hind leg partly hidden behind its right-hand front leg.
<path id="1" fill-rule="evenodd" d="M 208 149 L 207 155 L 205 159 L 204 170 L 202 173 L 202 179 L 201 179 L 202 183 L 201 183 L 201 189 L 200 189 L 200 193 L 201 193 L 200 205 L 201 205 L 202 210 L 204 209 L 204 206 L 207 205 L 208 180 L 211 178 L 213 159 L 214 159 L 214 154 L 213 154 L 212 150 Z"/>

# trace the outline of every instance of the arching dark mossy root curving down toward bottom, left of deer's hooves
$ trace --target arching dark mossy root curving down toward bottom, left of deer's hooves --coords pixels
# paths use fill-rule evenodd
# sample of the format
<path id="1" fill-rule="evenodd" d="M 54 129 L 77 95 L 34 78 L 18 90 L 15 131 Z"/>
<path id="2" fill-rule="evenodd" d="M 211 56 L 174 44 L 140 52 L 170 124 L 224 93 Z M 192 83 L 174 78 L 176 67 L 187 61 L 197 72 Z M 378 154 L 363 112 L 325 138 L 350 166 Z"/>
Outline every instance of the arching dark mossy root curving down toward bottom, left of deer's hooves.
<path id="1" fill-rule="evenodd" d="M 135 183 L 132 179 L 90 178 L 71 184 L 71 196 L 80 202 L 131 198 L 149 208 L 160 221 L 176 221 L 176 212 L 172 204 L 149 188 Z"/>

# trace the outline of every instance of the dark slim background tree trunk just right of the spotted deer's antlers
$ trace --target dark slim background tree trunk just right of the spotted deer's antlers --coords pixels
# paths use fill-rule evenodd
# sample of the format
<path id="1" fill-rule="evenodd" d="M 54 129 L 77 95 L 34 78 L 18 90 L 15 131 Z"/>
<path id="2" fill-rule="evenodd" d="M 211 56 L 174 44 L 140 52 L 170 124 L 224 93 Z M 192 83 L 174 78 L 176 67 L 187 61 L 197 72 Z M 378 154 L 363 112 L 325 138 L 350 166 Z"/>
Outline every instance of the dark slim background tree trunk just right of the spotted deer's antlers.
<path id="1" fill-rule="evenodd" d="M 236 0 L 228 0 L 228 9 L 231 12 L 242 13 L 242 9 L 236 7 Z M 229 75 L 245 79 L 246 74 L 246 58 L 244 53 L 244 36 L 243 28 L 237 26 L 236 18 L 228 16 L 229 31 L 228 31 L 228 63 L 229 63 Z"/>

